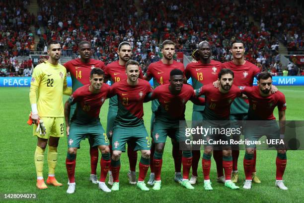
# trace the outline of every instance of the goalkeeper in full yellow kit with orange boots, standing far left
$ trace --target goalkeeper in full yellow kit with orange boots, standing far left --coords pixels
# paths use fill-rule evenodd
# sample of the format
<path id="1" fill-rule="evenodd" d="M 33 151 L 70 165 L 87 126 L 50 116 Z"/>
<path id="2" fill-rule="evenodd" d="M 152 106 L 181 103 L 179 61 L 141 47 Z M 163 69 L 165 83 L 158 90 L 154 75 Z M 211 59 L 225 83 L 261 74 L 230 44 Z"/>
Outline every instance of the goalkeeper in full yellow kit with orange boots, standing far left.
<path id="1" fill-rule="evenodd" d="M 49 176 L 47 184 L 62 186 L 55 179 L 57 164 L 57 147 L 59 138 L 64 136 L 63 94 L 71 95 L 72 89 L 67 87 L 66 68 L 58 63 L 61 46 L 57 41 L 48 44 L 49 59 L 46 63 L 35 67 L 30 87 L 31 119 L 34 125 L 33 134 L 37 136 L 35 166 L 37 188 L 48 188 L 43 180 L 44 151 L 48 147 Z M 43 120 L 43 122 L 41 122 Z M 40 123 L 39 123 L 40 122 Z M 39 124 L 38 124 L 39 123 Z M 39 127 L 40 129 L 37 129 Z"/>

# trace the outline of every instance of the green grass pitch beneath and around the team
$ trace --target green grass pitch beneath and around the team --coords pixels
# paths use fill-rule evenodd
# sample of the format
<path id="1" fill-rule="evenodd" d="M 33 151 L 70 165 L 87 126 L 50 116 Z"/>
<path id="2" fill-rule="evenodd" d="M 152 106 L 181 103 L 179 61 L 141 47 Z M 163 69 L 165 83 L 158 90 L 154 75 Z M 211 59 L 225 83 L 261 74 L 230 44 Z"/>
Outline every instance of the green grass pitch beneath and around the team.
<path id="1" fill-rule="evenodd" d="M 287 100 L 287 120 L 303 120 L 304 87 L 278 87 Z M 90 174 L 89 145 L 87 140 L 81 142 L 81 149 L 77 152 L 76 159 L 76 192 L 67 195 L 68 176 L 65 160 L 67 153 L 66 137 L 60 139 L 58 147 L 58 164 L 56 168 L 57 180 L 64 184 L 63 187 L 50 186 L 47 190 L 36 188 L 36 172 L 34 165 L 34 151 L 37 138 L 32 136 L 32 127 L 26 124 L 30 111 L 29 88 L 0 88 L 0 194 L 30 193 L 37 194 L 39 202 L 303 202 L 303 167 L 304 151 L 288 151 L 288 164 L 284 175 L 288 191 L 275 187 L 275 158 L 276 151 L 257 151 L 257 174 L 261 184 L 253 184 L 252 189 L 245 191 L 229 190 L 223 184 L 216 183 L 216 167 L 212 158 L 211 181 L 213 191 L 204 191 L 201 161 L 199 163 L 199 179 L 195 190 L 189 191 L 173 181 L 174 164 L 171 155 L 171 142 L 168 139 L 163 156 L 162 188 L 160 191 L 142 192 L 128 183 L 127 171 L 129 164 L 127 154 L 122 155 L 120 170 L 120 191 L 105 194 L 98 190 L 97 185 L 88 181 Z M 64 101 L 68 97 L 64 97 Z M 102 106 L 100 113 L 101 123 L 106 128 L 108 100 Z M 151 103 L 144 104 L 145 125 L 150 132 Z M 192 103 L 188 102 L 186 119 L 191 120 Z M 277 116 L 277 109 L 275 109 Z M 238 160 L 239 183 L 242 187 L 244 151 L 240 152 Z M 99 156 L 101 157 L 101 156 Z M 138 158 L 140 159 L 140 153 Z M 48 167 L 45 157 L 44 178 L 47 178 Z M 139 163 L 139 160 L 138 160 Z M 99 164 L 97 176 L 99 177 Z M 150 171 L 148 172 L 148 175 Z M 137 168 L 138 175 L 138 168 Z M 148 177 L 146 178 L 146 182 Z M 3 201 L 3 199 L 1 199 Z M 20 202 L 18 200 L 13 202 Z M 28 202 L 28 201 L 26 201 Z M 37 202 L 37 201 L 33 201 Z"/>

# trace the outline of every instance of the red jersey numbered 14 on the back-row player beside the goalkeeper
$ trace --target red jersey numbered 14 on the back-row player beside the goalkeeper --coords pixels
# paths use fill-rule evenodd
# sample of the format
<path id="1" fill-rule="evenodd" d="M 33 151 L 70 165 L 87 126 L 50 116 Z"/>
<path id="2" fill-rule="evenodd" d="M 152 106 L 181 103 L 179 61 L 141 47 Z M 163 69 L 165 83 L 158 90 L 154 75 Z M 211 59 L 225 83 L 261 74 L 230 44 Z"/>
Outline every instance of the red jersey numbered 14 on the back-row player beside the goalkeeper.
<path id="1" fill-rule="evenodd" d="M 73 92 L 83 85 L 90 84 L 90 73 L 93 68 L 104 70 L 102 61 L 90 59 L 88 63 L 82 63 L 80 59 L 74 59 L 64 64 L 67 72 L 71 73 Z"/>

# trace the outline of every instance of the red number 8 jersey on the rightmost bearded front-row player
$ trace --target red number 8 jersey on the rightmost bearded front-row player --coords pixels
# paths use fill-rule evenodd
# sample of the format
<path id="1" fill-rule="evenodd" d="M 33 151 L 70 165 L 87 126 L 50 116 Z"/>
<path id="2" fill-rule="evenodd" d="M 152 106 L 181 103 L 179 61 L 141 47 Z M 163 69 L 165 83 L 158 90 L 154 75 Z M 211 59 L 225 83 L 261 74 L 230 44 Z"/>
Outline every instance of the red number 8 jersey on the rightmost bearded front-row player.
<path id="1" fill-rule="evenodd" d="M 273 110 L 278 106 L 279 111 L 286 110 L 286 100 L 282 92 L 278 91 L 268 97 L 260 94 L 259 87 L 244 87 L 241 92 L 249 100 L 249 120 L 275 120 Z"/>

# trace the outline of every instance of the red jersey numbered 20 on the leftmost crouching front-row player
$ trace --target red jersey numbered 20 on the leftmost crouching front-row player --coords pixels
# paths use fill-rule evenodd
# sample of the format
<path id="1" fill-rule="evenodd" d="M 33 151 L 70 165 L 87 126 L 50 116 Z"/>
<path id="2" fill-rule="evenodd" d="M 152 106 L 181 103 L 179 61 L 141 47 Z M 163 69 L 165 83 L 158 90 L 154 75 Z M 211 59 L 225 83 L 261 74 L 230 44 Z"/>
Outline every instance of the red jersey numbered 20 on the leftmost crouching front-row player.
<path id="1" fill-rule="evenodd" d="M 80 124 L 92 124 L 99 121 L 100 108 L 109 94 L 108 84 L 102 84 L 100 92 L 96 94 L 89 91 L 89 85 L 78 88 L 70 97 L 71 104 L 77 103 L 71 121 Z"/>

